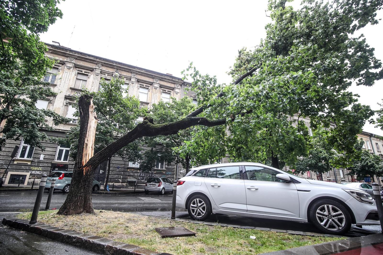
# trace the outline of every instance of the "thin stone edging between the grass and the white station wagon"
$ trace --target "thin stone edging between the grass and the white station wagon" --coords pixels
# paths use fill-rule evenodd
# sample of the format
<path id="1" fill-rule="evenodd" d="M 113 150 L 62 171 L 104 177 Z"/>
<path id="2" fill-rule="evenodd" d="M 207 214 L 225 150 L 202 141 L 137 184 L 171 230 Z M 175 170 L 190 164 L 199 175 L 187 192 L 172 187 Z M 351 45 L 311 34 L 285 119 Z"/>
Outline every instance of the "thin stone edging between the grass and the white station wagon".
<path id="1" fill-rule="evenodd" d="M 153 218 L 160 218 L 160 219 L 170 219 L 169 217 L 163 217 L 163 216 L 153 216 L 153 215 L 147 215 L 147 214 L 141 214 L 148 217 Z M 239 225 L 230 225 L 230 224 L 222 224 L 222 223 L 213 223 L 213 222 L 206 222 L 206 221 L 193 221 L 191 219 L 170 219 L 172 221 L 183 221 L 183 222 L 191 222 L 191 223 L 199 223 L 199 224 L 205 224 L 209 226 L 221 226 L 221 227 L 234 227 L 239 229 L 256 229 L 256 230 L 264 230 L 264 231 L 274 231 L 274 232 L 281 232 L 281 233 L 287 233 L 292 235 L 301 235 L 301 236 L 326 236 L 326 237 L 343 237 L 343 236 L 336 236 L 336 235 L 329 235 L 329 234 L 319 234 L 319 233 L 313 233 L 313 232 L 303 232 L 303 231 L 293 231 L 293 230 L 283 230 L 283 229 L 270 229 L 266 227 L 250 227 L 250 226 L 239 226 Z"/>

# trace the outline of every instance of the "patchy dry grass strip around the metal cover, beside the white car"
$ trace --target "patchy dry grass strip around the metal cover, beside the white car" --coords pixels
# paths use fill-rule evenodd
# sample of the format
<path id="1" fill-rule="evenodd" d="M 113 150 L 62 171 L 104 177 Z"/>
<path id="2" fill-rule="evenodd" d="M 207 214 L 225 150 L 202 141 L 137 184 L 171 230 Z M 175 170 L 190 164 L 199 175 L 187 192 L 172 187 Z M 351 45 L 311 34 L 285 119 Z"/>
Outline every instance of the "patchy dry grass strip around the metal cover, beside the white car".
<path id="1" fill-rule="evenodd" d="M 38 221 L 63 229 L 138 245 L 156 252 L 173 254 L 259 254 L 304 245 L 338 240 L 333 237 L 298 236 L 273 231 L 207 226 L 141 216 L 132 213 L 97 211 L 96 214 L 61 216 L 57 211 L 41 211 Z M 19 214 L 30 218 L 31 213 Z M 197 233 L 195 237 L 161 238 L 155 227 L 182 226 Z M 255 236 L 256 239 L 250 239 Z"/>

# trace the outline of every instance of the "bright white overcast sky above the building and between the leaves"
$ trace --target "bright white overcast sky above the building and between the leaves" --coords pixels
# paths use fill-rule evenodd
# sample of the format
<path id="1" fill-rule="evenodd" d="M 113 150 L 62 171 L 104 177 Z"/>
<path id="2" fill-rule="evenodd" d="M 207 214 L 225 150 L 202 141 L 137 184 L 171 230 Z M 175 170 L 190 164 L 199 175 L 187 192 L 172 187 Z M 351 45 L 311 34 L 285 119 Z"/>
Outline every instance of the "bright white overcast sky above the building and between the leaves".
<path id="1" fill-rule="evenodd" d="M 193 61 L 202 73 L 216 75 L 219 83 L 231 82 L 226 72 L 238 50 L 257 45 L 271 21 L 265 15 L 267 0 L 66 0 L 59 8 L 64 16 L 41 34 L 44 42 L 57 41 L 74 50 L 177 77 Z M 383 11 L 378 18 L 383 18 Z M 382 23 L 362 31 L 378 59 L 383 59 L 381 31 Z M 360 95 L 362 104 L 377 110 L 382 85 L 380 80 L 370 88 L 353 86 L 350 90 Z M 370 124 L 364 130 L 383 136 L 383 130 Z"/>

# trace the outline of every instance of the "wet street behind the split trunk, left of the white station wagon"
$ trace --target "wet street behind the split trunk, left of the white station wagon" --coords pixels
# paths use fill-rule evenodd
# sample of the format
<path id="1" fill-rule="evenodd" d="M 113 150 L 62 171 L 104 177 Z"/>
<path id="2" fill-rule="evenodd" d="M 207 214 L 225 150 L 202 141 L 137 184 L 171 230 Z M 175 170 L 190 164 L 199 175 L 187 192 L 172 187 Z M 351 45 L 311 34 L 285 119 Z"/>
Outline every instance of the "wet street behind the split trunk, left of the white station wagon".
<path id="1" fill-rule="evenodd" d="M 32 211 L 37 191 L 1 191 L 0 212 Z M 41 200 L 41 210 L 45 208 L 48 192 L 45 191 Z M 50 208 L 60 208 L 66 194 L 55 191 Z M 96 195 L 92 196 L 93 208 L 113 211 L 169 211 L 172 208 L 172 195 L 155 193 L 133 193 L 132 195 Z"/>

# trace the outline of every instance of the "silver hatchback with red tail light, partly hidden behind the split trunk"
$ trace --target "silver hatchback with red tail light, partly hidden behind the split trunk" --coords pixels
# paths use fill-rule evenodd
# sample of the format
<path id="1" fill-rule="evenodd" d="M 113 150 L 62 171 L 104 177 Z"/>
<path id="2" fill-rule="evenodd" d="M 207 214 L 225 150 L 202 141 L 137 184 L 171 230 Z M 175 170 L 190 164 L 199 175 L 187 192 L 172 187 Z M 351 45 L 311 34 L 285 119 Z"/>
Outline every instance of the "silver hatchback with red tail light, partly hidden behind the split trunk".
<path id="1" fill-rule="evenodd" d="M 47 177 L 47 182 L 45 184 L 45 189 L 50 190 L 52 179 L 56 179 L 54 184 L 54 190 L 61 190 L 64 193 L 69 192 L 70 182 L 73 177 L 73 172 L 70 171 L 53 171 Z M 93 180 L 92 190 L 97 191 L 101 187 L 100 182 Z"/>

